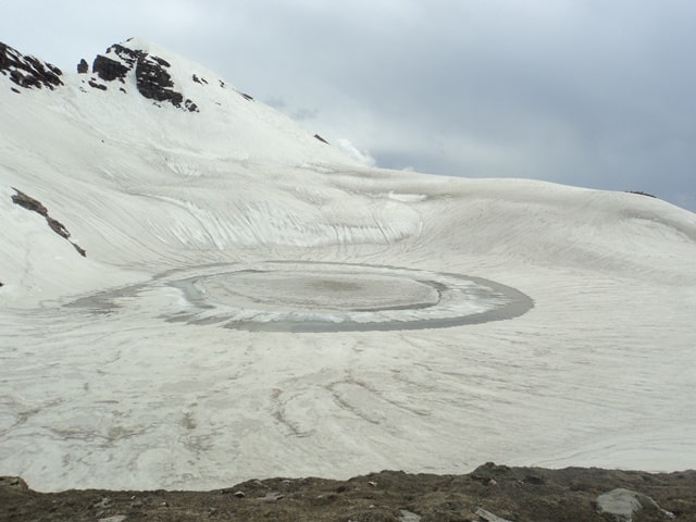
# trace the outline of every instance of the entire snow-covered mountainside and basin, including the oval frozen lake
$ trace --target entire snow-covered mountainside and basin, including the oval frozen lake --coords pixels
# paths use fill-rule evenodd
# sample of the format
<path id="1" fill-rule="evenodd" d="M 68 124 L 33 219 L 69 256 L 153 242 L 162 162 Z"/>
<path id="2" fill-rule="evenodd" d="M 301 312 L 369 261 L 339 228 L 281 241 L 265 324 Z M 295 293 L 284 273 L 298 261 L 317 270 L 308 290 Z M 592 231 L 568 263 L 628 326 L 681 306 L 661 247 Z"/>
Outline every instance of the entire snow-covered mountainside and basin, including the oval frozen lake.
<path id="1" fill-rule="evenodd" d="M 366 167 L 139 39 L 79 70 L 0 47 L 1 473 L 696 465 L 693 213 Z"/>

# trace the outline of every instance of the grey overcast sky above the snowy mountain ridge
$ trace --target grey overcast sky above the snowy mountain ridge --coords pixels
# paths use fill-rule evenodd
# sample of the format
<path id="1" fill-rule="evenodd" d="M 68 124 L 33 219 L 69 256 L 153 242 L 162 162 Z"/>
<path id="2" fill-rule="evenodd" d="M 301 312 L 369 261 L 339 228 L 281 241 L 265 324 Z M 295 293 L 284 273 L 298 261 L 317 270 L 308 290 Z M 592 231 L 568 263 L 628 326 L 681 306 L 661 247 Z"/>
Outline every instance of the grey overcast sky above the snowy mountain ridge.
<path id="1" fill-rule="evenodd" d="M 696 211 L 694 0 L 0 0 L 62 69 L 138 36 L 377 166 Z"/>

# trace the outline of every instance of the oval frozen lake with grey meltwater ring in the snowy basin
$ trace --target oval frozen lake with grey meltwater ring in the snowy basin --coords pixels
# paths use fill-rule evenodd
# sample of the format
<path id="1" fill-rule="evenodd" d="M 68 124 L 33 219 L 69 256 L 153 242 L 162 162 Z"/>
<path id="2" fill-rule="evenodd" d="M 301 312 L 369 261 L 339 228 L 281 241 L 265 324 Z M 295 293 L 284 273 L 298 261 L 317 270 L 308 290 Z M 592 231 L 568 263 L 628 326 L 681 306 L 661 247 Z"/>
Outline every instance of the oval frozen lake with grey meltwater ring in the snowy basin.
<path id="1" fill-rule="evenodd" d="M 72 306 L 113 312 L 123 299 L 158 293 L 171 300 L 166 321 L 253 332 L 442 328 L 512 319 L 533 307 L 521 291 L 481 277 L 293 261 L 191 268 Z"/>

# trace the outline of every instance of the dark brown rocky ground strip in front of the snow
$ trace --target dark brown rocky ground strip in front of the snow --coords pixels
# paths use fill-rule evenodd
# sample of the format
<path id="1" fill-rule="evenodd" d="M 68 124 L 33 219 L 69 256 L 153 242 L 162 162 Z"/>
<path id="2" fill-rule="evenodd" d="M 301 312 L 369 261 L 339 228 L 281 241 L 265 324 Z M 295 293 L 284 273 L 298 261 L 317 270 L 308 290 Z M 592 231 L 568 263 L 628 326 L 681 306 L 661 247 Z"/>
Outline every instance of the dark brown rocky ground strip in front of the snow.
<path id="1" fill-rule="evenodd" d="M 508 468 L 268 478 L 212 492 L 34 492 L 0 477 L 0 521 L 696 521 L 696 471 Z"/>

